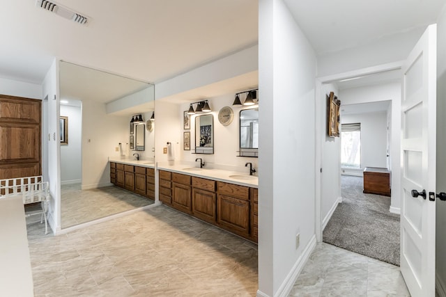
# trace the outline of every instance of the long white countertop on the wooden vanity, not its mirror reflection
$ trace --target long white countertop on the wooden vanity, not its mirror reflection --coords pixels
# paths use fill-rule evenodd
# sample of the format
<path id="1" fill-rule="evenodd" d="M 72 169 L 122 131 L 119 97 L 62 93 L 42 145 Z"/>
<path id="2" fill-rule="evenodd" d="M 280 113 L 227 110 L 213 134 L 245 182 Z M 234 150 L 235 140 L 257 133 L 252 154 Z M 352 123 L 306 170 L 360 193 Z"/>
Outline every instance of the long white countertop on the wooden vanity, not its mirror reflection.
<path id="1" fill-rule="evenodd" d="M 158 165 L 157 169 L 192 175 L 194 177 L 201 177 L 205 179 L 214 179 L 220 182 L 229 182 L 230 184 L 238 184 L 240 186 L 250 186 L 252 188 L 257 188 L 259 186 L 259 177 L 231 170 L 197 168 L 185 164 L 163 164 Z"/>

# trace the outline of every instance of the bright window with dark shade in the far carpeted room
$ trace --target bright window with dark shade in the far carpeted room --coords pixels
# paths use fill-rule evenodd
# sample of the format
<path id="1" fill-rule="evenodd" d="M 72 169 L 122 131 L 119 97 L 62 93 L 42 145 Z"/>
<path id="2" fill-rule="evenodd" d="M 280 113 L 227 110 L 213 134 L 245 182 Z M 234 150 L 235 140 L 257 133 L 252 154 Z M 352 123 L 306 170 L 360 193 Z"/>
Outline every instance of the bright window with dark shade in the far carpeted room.
<path id="1" fill-rule="evenodd" d="M 361 124 L 341 125 L 341 167 L 361 168 Z"/>

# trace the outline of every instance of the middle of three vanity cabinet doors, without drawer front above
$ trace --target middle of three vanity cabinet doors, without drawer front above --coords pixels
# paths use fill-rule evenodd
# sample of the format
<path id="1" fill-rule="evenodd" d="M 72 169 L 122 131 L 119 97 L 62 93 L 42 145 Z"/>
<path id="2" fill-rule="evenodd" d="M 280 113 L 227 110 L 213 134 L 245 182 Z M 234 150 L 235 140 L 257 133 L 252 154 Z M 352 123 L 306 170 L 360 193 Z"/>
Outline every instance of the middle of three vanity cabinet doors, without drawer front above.
<path id="1" fill-rule="evenodd" d="M 215 224 L 216 206 L 217 195 L 215 192 L 192 188 L 192 213 L 194 216 Z"/>

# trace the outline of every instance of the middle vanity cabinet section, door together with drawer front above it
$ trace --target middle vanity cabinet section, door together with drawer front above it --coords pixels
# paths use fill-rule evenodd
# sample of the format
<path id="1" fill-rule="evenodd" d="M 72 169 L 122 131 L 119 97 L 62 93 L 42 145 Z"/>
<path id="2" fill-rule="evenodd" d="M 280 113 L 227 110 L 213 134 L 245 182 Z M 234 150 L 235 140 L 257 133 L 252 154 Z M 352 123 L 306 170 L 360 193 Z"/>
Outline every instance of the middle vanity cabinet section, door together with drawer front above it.
<path id="1" fill-rule="evenodd" d="M 215 181 L 192 177 L 192 214 L 208 223 L 217 220 Z"/>

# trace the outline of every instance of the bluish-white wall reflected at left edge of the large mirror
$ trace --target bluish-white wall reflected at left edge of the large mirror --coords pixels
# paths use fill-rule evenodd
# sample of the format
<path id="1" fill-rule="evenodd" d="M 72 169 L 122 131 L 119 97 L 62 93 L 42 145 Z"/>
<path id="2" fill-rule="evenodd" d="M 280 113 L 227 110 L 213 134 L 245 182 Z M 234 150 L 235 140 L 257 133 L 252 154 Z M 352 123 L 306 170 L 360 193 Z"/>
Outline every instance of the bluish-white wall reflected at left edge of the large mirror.
<path id="1" fill-rule="evenodd" d="M 61 184 L 82 179 L 82 112 L 80 106 L 61 105 L 61 116 L 68 117 L 68 145 L 61 145 Z"/>

